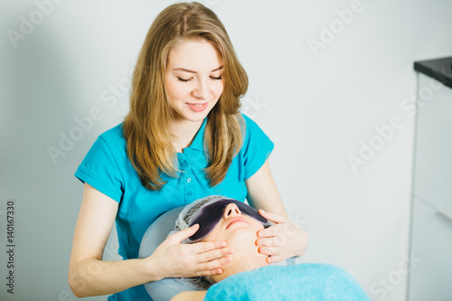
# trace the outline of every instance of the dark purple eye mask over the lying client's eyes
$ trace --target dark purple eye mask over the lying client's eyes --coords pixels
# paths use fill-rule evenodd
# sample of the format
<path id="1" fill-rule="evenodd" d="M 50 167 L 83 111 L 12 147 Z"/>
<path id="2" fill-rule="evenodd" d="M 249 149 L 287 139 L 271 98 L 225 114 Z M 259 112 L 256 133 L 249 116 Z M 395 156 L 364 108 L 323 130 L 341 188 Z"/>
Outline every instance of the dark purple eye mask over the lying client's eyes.
<path id="1" fill-rule="evenodd" d="M 267 219 L 260 215 L 256 209 L 247 205 L 246 203 L 234 199 L 221 199 L 204 205 L 196 213 L 196 215 L 193 217 L 193 220 L 190 222 L 189 227 L 192 227 L 195 223 L 198 223 L 200 225 L 200 228 L 188 239 L 195 242 L 202 240 L 207 234 L 209 234 L 221 220 L 224 209 L 231 202 L 235 203 L 237 207 L 239 207 L 239 210 L 242 214 L 248 215 L 262 223 L 264 225 L 264 228 L 271 226 Z"/>

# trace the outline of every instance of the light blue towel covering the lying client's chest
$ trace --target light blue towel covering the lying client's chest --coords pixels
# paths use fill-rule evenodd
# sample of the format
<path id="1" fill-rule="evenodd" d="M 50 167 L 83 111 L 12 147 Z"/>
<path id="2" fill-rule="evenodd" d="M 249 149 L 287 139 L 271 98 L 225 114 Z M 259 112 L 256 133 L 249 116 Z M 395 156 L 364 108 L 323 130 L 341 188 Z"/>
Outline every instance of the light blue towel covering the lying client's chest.
<path id="1" fill-rule="evenodd" d="M 363 288 L 344 268 L 323 263 L 266 266 L 214 284 L 204 301 L 366 300 Z"/>

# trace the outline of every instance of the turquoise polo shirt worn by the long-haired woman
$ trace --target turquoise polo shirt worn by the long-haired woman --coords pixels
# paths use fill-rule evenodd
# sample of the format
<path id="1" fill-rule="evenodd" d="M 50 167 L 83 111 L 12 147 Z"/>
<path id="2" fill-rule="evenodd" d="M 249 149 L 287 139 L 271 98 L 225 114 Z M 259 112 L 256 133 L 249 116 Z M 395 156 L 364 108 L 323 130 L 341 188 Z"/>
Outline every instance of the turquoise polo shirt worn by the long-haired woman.
<path id="1" fill-rule="evenodd" d="M 127 157 L 122 123 L 101 134 L 89 149 L 75 176 L 89 183 L 119 203 L 116 216 L 119 249 L 123 259 L 137 259 L 140 242 L 149 225 L 161 214 L 208 195 L 224 195 L 244 202 L 248 190 L 245 180 L 265 163 L 274 144 L 249 117 L 240 152 L 229 166 L 224 180 L 216 186 L 202 171 L 208 166 L 207 149 L 203 146 L 207 118 L 183 153 L 177 153 L 180 173 L 171 177 L 162 173 L 166 182 L 160 191 L 147 190 Z M 151 300 L 144 286 L 132 287 L 110 296 L 108 300 Z"/>

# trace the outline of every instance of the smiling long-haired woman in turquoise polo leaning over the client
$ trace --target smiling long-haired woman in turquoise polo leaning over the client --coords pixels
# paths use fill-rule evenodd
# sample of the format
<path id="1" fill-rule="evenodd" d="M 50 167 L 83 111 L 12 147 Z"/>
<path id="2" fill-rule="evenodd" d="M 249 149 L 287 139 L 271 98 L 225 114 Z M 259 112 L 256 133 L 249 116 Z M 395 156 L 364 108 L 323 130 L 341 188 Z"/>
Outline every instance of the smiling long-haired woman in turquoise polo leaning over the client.
<path id="1" fill-rule="evenodd" d="M 268 212 L 262 215 L 275 225 L 257 240 L 268 263 L 304 254 L 306 231 L 287 218 L 270 173 L 273 143 L 239 111 L 247 88 L 212 10 L 178 3 L 155 18 L 133 73 L 127 117 L 99 136 L 75 173 L 84 183 L 69 270 L 76 296 L 150 300 L 146 282 L 220 275 L 234 250 L 225 240 L 181 244 L 196 225 L 138 259 L 140 241 L 159 215 L 206 195 L 247 199 Z M 103 261 L 114 222 L 123 260 Z M 293 239 L 278 240 L 287 224 L 296 229 Z"/>

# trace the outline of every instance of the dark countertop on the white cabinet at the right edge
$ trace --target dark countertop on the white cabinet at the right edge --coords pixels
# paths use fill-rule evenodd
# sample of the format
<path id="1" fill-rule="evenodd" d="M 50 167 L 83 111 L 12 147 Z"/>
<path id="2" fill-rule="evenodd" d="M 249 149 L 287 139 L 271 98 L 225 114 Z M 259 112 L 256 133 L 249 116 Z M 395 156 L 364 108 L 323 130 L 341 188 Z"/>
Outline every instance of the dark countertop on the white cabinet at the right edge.
<path id="1" fill-rule="evenodd" d="M 452 57 L 415 61 L 414 70 L 439 80 L 447 87 L 452 88 Z"/>

